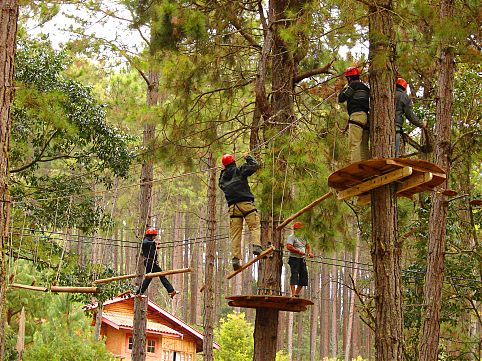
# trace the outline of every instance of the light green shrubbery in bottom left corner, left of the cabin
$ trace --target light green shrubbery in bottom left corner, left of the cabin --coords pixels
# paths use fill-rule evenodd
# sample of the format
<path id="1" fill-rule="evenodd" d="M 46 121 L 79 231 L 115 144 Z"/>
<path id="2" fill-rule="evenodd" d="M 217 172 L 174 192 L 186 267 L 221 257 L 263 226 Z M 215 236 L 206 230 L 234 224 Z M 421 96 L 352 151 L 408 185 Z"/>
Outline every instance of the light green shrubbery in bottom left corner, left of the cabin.
<path id="1" fill-rule="evenodd" d="M 10 263 L 11 279 L 21 284 L 47 286 L 55 271 L 30 262 Z M 112 271 L 99 272 L 108 277 Z M 58 285 L 86 286 L 92 274 L 68 265 L 60 274 Z M 104 301 L 121 292 L 123 284 L 103 288 L 96 298 Z M 25 307 L 25 360 L 110 360 L 102 342 L 94 342 L 91 318 L 82 310 L 91 297 L 85 294 L 53 294 L 10 288 L 7 292 L 7 360 L 16 360 L 15 344 L 18 315 Z M 37 358 L 36 358 L 37 357 Z"/>

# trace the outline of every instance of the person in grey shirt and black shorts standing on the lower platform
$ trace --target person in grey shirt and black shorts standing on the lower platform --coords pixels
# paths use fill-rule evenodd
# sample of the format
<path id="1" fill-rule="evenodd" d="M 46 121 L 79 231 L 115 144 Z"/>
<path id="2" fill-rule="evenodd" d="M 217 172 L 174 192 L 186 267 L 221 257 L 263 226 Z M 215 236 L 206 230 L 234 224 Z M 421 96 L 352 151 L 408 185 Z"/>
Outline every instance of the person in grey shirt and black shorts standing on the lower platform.
<path id="1" fill-rule="evenodd" d="M 293 234 L 286 241 L 286 248 L 289 251 L 288 264 L 290 265 L 290 288 L 292 297 L 300 297 L 303 286 L 308 286 L 308 269 L 305 257 L 313 258 L 311 246 L 303 237 L 304 225 L 301 222 L 293 224 Z"/>

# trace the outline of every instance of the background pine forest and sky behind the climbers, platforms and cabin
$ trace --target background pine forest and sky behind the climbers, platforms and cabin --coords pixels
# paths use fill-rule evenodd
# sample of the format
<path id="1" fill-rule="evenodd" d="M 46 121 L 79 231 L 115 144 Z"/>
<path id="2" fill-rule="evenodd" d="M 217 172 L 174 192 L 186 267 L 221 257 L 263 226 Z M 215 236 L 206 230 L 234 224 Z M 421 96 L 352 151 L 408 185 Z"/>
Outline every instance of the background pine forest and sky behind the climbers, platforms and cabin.
<path id="1" fill-rule="evenodd" d="M 232 269 L 227 205 L 210 177 L 219 176 L 223 153 L 239 159 L 251 151 L 262 164 L 250 179 L 264 229 L 329 191 L 328 176 L 349 163 L 348 116 L 338 103 L 345 68 L 358 66 L 368 83 L 371 3 L 290 3 L 276 34 L 294 69 L 294 117 L 280 118 L 269 104 L 277 75 L 269 52 L 278 40 L 268 2 L 20 2 L 4 242 L 8 283 L 89 286 L 135 273 L 147 221 L 160 232 L 161 267 L 193 269 L 170 276 L 181 291 L 173 300 L 158 280 L 149 297 L 202 331 L 200 289 L 212 247 L 212 322 L 221 345 L 214 358 L 251 360 L 255 312 L 229 307 L 225 296 L 256 293 L 257 266 L 226 280 Z M 436 59 L 441 43 L 452 44 L 447 188 L 457 195 L 448 200 L 438 357 L 482 360 L 480 2 L 453 1 L 457 15 L 448 21 L 441 21 L 439 6 L 393 4 L 395 64 L 433 135 Z M 406 131 L 419 143 L 430 140 L 412 125 Z M 404 154 L 433 160 L 432 152 L 408 144 Z M 407 360 L 419 359 L 431 202 L 430 193 L 398 200 Z M 333 197 L 300 217 L 315 252 L 304 291 L 314 306 L 280 313 L 278 359 L 375 359 L 369 209 Z M 247 244 L 244 249 L 247 261 Z M 284 292 L 286 262 L 285 254 Z M 134 289 L 128 281 L 110 283 L 95 297 L 103 301 L 128 289 Z M 7 286 L 6 298 L 6 360 L 17 359 L 22 308 L 25 360 L 110 359 L 82 310 L 90 295 Z"/>

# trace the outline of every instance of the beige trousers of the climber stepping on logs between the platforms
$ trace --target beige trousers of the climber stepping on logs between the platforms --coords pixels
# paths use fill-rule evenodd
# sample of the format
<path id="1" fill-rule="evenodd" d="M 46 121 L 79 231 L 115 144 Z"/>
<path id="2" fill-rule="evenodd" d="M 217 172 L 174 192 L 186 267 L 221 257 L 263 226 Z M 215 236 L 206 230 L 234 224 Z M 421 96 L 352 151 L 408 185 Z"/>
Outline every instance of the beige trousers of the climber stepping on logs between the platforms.
<path id="1" fill-rule="evenodd" d="M 246 220 L 251 233 L 251 244 L 261 246 L 261 222 L 254 202 L 239 202 L 229 206 L 229 233 L 233 258 L 243 259 L 241 253 L 241 233 L 243 220 Z M 253 211 L 254 210 L 254 211 Z"/>

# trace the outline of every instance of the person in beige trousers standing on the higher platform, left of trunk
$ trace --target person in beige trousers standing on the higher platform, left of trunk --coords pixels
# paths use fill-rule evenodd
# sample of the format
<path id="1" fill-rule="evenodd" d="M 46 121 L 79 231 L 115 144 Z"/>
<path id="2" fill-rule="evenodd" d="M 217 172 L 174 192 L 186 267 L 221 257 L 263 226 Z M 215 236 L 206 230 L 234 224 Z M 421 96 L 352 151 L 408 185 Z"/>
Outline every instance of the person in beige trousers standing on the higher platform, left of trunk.
<path id="1" fill-rule="evenodd" d="M 360 81 L 360 70 L 349 67 L 345 71 L 348 85 L 338 95 L 338 102 L 347 102 L 348 143 L 351 162 L 368 159 L 368 111 L 370 104 L 370 88 Z"/>

